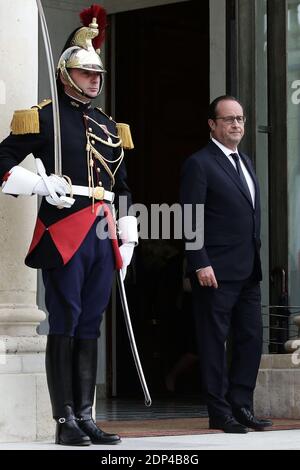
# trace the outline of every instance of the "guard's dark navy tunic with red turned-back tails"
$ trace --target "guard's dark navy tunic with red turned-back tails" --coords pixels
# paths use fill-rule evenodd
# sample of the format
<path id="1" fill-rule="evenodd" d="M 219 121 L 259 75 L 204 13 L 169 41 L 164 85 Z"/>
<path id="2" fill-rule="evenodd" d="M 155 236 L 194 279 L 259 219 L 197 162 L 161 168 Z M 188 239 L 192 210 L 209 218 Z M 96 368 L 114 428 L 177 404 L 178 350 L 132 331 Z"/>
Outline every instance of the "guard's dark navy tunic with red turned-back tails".
<path id="1" fill-rule="evenodd" d="M 90 104 L 79 103 L 64 93 L 59 96 L 59 108 L 63 174 L 69 176 L 74 185 L 88 186 L 87 129 L 84 116 L 93 119 L 93 121 L 88 121 L 88 127 L 104 142 L 109 140 L 107 131 L 116 136 L 112 137 L 113 143 L 118 141 L 116 123 L 101 110 L 92 108 Z M 0 184 L 3 176 L 13 166 L 21 163 L 30 153 L 43 161 L 47 174 L 54 172 L 54 130 L 51 102 L 49 101 L 49 104 L 39 109 L 38 112 L 39 132 L 11 134 L 0 144 Z M 117 163 L 114 161 L 120 155 L 121 147 L 107 146 L 101 141 L 94 142 L 94 146 L 105 157 L 107 166 L 113 172 L 117 167 Z M 95 185 L 97 186 L 100 182 L 104 189 L 114 191 L 117 206 L 119 196 L 127 196 L 128 206 L 131 204 L 124 161 L 117 170 L 113 187 L 108 172 L 100 162 L 95 162 L 93 171 Z M 33 268 L 46 269 L 66 264 L 79 248 L 95 220 L 91 206 L 90 198 L 75 196 L 75 203 L 71 208 L 60 210 L 48 204 L 43 198 L 33 241 L 25 263 Z"/>

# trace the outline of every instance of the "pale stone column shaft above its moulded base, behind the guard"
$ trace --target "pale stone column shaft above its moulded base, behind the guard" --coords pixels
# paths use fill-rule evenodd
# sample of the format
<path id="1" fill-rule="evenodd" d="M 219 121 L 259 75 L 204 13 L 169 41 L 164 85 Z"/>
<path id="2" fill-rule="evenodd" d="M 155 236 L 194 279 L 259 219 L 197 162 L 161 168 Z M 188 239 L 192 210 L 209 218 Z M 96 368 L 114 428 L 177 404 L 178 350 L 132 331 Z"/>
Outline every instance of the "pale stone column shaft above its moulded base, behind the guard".
<path id="1" fill-rule="evenodd" d="M 34 0 L 0 3 L 1 140 L 10 132 L 14 110 L 29 108 L 37 101 L 38 29 L 34 6 Z M 28 44 L 30 52 L 26 49 Z M 27 157 L 23 165 L 33 169 L 33 158 Z M 32 289 L 36 272 L 21 262 L 29 246 L 35 214 L 35 198 L 16 200 L 0 193 L 0 304 L 18 303 L 19 298 L 26 303 L 36 302 L 36 291 Z"/>

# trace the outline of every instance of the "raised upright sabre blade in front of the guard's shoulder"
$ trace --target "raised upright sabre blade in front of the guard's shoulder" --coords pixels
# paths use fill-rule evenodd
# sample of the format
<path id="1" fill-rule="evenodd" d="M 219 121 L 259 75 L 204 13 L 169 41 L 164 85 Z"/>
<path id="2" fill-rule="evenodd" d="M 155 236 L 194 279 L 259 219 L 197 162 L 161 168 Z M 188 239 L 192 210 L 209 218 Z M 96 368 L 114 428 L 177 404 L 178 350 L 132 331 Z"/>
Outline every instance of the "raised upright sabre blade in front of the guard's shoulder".
<path id="1" fill-rule="evenodd" d="M 55 68 L 53 62 L 52 48 L 47 28 L 46 18 L 43 10 L 41 0 L 36 0 L 38 7 L 41 28 L 44 39 L 45 52 L 47 57 L 49 80 L 52 97 L 52 111 L 53 111 L 53 128 L 54 128 L 54 171 L 58 176 L 62 176 L 62 158 L 61 158 L 61 135 L 60 135 L 60 120 L 59 120 L 59 106 L 58 96 L 55 79 Z"/>

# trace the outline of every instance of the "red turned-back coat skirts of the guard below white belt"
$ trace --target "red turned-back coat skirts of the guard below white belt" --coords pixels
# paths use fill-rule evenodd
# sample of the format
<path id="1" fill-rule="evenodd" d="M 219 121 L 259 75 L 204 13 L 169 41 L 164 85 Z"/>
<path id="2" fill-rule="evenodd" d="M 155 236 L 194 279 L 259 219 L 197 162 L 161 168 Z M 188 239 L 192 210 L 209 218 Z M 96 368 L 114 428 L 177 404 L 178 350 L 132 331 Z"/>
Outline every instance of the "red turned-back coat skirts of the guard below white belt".
<path id="1" fill-rule="evenodd" d="M 63 263 L 67 264 L 76 253 L 91 226 L 95 222 L 100 206 L 103 206 L 104 215 L 107 218 L 109 236 L 111 238 L 115 255 L 115 266 L 116 269 L 121 269 L 123 261 L 119 250 L 115 222 L 110 209 L 102 201 L 95 204 L 94 212 L 91 211 L 90 206 L 86 207 L 85 209 L 75 212 L 75 214 L 71 214 L 64 219 L 55 222 L 48 228 L 46 228 L 41 220 L 38 219 L 29 248 L 29 253 L 37 246 L 45 230 L 48 230 L 53 243 L 63 259 Z"/>

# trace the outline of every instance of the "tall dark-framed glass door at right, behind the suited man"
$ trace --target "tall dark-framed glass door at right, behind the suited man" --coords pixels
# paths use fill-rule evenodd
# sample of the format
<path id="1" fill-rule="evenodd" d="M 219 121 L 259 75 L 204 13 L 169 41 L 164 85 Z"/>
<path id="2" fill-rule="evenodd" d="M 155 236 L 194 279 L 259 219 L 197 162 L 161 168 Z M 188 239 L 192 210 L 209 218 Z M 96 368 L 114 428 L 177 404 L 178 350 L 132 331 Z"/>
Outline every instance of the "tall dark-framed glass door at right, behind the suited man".
<path id="1" fill-rule="evenodd" d="M 300 310 L 300 0 L 228 5 L 236 77 L 228 91 L 245 104 L 243 149 L 261 188 L 264 352 L 283 353 Z"/>

